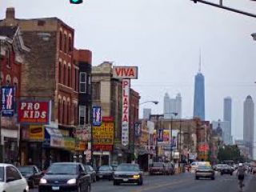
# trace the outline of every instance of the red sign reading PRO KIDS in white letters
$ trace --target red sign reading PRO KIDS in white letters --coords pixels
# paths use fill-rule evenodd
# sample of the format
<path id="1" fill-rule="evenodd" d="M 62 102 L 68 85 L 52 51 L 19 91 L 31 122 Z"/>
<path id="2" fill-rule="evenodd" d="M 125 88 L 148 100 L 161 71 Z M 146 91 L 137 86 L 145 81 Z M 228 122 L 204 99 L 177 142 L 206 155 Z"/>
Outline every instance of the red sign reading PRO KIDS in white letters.
<path id="1" fill-rule="evenodd" d="M 19 102 L 18 122 L 30 124 L 49 124 L 50 107 L 50 102 Z"/>

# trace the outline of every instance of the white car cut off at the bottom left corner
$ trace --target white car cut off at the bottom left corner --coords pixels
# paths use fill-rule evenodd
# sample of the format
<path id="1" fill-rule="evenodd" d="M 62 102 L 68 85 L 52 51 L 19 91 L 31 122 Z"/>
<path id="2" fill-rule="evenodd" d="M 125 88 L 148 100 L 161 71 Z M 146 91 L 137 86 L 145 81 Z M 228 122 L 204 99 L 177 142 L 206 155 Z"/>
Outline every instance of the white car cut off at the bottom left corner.
<path id="1" fill-rule="evenodd" d="M 0 191 L 28 192 L 29 186 L 15 166 L 0 163 Z"/>

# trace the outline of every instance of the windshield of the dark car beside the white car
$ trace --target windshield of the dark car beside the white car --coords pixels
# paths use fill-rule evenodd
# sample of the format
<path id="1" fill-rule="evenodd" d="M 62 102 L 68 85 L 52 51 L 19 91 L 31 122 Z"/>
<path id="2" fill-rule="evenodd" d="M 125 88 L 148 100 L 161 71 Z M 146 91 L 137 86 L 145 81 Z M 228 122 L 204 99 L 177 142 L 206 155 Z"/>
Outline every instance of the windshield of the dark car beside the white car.
<path id="1" fill-rule="evenodd" d="M 77 166 L 74 164 L 53 164 L 46 174 L 77 174 Z"/>

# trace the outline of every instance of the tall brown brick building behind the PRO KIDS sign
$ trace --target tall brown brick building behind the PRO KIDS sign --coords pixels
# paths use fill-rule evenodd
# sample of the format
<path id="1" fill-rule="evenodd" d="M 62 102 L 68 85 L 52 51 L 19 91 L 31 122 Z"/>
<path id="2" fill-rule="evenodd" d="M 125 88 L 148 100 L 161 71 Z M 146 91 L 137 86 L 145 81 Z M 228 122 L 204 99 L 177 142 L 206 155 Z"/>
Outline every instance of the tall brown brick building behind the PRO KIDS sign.
<path id="1" fill-rule="evenodd" d="M 72 160 L 75 150 L 85 150 L 85 145 L 76 147 L 74 139 L 79 123 L 79 58 L 74 60 L 74 29 L 58 18 L 15 18 L 14 8 L 6 10 L 0 25 L 20 27 L 22 38 L 30 47 L 22 66 L 20 99 L 51 101 L 50 125 L 42 125 L 42 131 L 58 140 L 53 146 L 45 138 L 31 138 L 30 125 L 21 125 L 21 163 L 32 158 L 43 167 L 50 162 Z M 87 57 L 82 54 L 80 58 Z"/>

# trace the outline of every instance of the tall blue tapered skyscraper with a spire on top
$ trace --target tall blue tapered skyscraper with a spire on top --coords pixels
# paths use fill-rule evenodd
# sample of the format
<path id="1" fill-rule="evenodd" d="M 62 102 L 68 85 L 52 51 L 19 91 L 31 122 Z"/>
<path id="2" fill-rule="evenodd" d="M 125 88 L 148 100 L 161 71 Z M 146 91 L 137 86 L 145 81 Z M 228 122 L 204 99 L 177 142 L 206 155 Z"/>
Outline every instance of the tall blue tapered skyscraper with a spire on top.
<path id="1" fill-rule="evenodd" d="M 198 74 L 194 77 L 194 117 L 205 120 L 205 78 L 201 73 L 201 54 Z"/>

